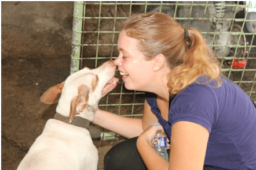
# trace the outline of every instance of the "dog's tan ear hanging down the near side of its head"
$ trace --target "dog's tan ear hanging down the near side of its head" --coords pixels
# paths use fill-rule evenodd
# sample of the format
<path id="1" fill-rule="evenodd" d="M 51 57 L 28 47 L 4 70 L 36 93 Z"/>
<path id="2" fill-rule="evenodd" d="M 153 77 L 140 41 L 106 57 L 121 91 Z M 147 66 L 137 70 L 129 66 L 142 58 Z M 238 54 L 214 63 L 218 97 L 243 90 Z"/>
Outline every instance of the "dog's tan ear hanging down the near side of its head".
<path id="1" fill-rule="evenodd" d="M 78 96 L 71 100 L 70 105 L 70 123 L 73 122 L 75 115 L 78 115 L 85 108 L 89 100 L 90 88 L 82 84 L 78 87 Z"/>

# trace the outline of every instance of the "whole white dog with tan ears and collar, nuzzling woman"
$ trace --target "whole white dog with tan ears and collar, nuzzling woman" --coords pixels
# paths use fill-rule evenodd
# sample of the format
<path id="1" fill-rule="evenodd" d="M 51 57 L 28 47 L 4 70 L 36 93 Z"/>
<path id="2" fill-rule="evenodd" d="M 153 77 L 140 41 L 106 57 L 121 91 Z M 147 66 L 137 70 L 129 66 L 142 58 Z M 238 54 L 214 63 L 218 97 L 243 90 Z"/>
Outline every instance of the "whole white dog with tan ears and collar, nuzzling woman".
<path id="1" fill-rule="evenodd" d="M 18 170 L 97 169 L 98 152 L 87 129 L 98 109 L 98 101 L 118 82 L 114 77 L 115 70 L 113 61 L 97 69 L 85 68 L 43 94 L 40 101 L 52 104 L 61 93 L 57 113 L 55 119 L 47 120 L 45 129 L 36 138 Z M 76 119 L 79 122 L 75 123 L 76 126 L 70 124 L 77 122 Z"/>

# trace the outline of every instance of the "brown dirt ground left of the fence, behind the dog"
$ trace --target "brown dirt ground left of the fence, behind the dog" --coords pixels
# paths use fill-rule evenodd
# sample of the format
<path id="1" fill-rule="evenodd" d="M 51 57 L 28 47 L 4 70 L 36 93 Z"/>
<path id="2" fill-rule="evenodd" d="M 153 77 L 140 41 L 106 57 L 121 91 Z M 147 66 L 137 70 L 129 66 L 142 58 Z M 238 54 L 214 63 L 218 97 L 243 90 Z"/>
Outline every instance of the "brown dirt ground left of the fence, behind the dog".
<path id="1" fill-rule="evenodd" d="M 74 2 L 1 2 L 2 132 L 30 147 L 57 104 L 41 95 L 70 74 Z M 98 169 L 105 153 L 120 141 L 95 141 Z M 1 138 L 1 169 L 17 169 L 25 152 Z"/>

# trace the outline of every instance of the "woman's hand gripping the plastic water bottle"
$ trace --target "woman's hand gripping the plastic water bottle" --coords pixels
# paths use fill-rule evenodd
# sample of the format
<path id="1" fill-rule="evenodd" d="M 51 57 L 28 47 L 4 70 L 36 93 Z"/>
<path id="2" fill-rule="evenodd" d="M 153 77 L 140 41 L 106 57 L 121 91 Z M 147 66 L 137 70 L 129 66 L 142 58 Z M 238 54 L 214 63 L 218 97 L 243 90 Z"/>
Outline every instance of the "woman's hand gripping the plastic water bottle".
<path id="1" fill-rule="evenodd" d="M 148 142 L 151 145 L 153 138 L 155 138 L 158 131 L 163 131 L 163 127 L 158 124 L 154 126 L 148 126 L 147 129 L 138 137 L 137 142 Z M 167 138 L 167 148 L 170 149 L 169 139 Z"/>

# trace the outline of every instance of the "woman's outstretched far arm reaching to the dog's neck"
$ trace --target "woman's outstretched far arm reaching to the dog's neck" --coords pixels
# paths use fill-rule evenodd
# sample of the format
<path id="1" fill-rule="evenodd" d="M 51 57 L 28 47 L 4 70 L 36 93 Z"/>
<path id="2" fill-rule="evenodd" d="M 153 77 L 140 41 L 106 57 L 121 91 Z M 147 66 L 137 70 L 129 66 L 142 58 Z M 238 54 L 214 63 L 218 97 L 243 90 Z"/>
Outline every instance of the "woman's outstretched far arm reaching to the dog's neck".
<path id="1" fill-rule="evenodd" d="M 93 121 L 94 124 L 126 138 L 138 137 L 144 128 L 156 122 L 158 118 L 151 111 L 147 101 L 145 101 L 142 119 L 127 118 L 98 109 Z"/>

